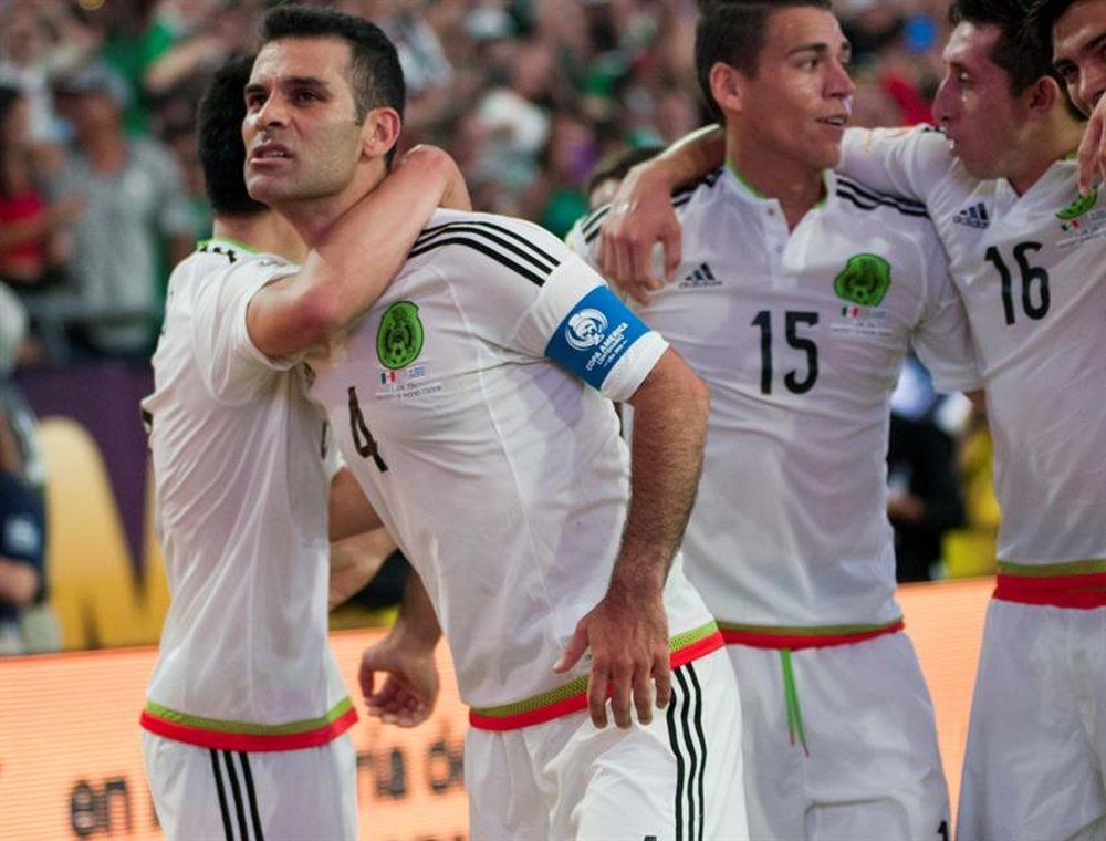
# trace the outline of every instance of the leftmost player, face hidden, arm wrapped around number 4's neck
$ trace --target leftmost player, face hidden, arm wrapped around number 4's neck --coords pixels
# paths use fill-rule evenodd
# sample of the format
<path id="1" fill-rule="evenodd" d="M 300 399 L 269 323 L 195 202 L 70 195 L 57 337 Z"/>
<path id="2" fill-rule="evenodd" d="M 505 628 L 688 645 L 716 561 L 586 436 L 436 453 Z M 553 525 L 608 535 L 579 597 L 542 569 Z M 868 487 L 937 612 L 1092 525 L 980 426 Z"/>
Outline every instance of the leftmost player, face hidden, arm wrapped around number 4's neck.
<path id="1" fill-rule="evenodd" d="M 170 839 L 354 839 L 356 713 L 326 641 L 328 454 L 300 359 L 367 305 L 445 190 L 467 194 L 448 156 L 420 152 L 298 269 L 276 256 L 303 258 L 295 231 L 246 193 L 249 69 L 220 72 L 200 105 L 215 237 L 169 280 L 143 402 L 173 596 L 144 755 Z"/>

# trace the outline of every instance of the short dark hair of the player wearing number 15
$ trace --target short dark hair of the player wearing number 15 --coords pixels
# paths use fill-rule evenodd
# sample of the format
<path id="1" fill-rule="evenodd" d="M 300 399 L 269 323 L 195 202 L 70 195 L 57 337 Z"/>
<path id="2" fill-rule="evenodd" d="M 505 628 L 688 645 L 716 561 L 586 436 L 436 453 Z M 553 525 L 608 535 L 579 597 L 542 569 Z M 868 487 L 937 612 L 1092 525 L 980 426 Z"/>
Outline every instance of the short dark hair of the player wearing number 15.
<path id="1" fill-rule="evenodd" d="M 696 75 L 703 100 L 717 120 L 721 121 L 722 112 L 710 92 L 710 69 L 722 62 L 754 79 L 769 18 L 781 9 L 801 7 L 831 11 L 830 0 L 699 0 Z"/>

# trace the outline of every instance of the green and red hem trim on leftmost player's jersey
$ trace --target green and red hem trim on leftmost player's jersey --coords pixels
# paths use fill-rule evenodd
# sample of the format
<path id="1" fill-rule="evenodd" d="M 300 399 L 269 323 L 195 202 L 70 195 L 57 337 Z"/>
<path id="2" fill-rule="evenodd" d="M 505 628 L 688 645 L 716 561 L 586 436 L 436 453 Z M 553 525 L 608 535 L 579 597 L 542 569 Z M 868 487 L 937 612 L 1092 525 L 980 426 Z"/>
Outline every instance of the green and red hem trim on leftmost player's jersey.
<path id="1" fill-rule="evenodd" d="M 153 700 L 146 702 L 138 723 L 150 733 L 186 745 L 216 750 L 302 750 L 333 741 L 353 727 L 357 710 L 348 697 L 319 718 L 280 725 L 223 721 L 179 713 Z"/>

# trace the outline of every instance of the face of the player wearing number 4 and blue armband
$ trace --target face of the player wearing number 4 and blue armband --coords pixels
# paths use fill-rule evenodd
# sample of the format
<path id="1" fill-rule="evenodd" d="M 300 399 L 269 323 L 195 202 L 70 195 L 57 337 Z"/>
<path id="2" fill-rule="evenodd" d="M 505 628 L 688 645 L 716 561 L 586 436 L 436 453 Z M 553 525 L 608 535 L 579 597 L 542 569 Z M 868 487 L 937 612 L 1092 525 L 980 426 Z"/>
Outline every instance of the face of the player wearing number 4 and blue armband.
<path id="1" fill-rule="evenodd" d="M 349 45 L 336 38 L 265 44 L 246 87 L 246 184 L 280 209 L 349 186 L 363 155 L 349 84 Z"/>

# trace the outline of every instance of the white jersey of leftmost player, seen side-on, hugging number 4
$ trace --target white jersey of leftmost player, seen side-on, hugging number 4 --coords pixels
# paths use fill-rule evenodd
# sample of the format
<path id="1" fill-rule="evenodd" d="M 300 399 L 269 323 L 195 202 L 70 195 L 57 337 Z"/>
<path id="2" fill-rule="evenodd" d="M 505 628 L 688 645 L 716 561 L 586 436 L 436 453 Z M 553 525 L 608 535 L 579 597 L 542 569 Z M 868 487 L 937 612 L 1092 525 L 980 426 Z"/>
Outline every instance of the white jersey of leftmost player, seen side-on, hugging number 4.
<path id="1" fill-rule="evenodd" d="M 225 240 L 181 262 L 143 402 L 173 595 L 143 724 L 204 747 L 317 745 L 356 715 L 326 638 L 323 417 L 246 328 L 294 270 Z"/>

